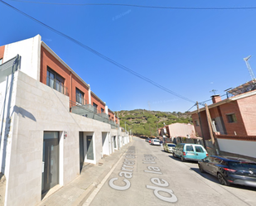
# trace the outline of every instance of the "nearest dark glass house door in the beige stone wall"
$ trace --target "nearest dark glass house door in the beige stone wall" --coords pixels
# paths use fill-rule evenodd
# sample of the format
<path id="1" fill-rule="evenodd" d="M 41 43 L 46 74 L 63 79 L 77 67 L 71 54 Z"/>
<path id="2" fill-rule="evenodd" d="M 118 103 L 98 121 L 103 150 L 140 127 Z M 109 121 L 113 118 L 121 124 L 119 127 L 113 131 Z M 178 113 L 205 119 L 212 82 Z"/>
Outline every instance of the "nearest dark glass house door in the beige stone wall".
<path id="1" fill-rule="evenodd" d="M 59 184 L 59 132 L 44 132 L 41 194 Z"/>

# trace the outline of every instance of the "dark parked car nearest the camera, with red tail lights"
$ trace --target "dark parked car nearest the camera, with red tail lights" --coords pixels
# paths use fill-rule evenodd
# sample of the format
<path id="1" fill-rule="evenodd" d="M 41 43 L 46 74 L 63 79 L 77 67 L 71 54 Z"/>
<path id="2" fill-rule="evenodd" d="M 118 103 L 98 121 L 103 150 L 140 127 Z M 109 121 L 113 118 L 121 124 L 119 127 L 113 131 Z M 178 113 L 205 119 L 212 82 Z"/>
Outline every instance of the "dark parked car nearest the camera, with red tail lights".
<path id="1" fill-rule="evenodd" d="M 215 175 L 220 184 L 256 187 L 256 162 L 231 156 L 207 156 L 198 161 L 200 172 Z"/>

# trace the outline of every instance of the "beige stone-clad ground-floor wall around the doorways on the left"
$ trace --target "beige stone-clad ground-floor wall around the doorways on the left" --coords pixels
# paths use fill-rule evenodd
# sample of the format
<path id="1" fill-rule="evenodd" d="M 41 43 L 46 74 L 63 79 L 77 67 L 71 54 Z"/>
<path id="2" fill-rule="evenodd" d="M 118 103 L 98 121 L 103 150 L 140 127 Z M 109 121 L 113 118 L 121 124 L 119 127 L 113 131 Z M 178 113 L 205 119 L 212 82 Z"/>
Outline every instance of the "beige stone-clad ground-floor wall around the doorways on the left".
<path id="1" fill-rule="evenodd" d="M 94 163 L 101 158 L 102 134 L 109 124 L 69 112 L 70 98 L 17 71 L 7 144 L 6 205 L 41 202 L 42 144 L 44 131 L 60 132 L 60 184 L 80 175 L 79 132 L 94 135 Z M 4 86 L 1 84 L 1 91 Z M 11 111 L 12 111 L 11 109 Z M 64 139 L 63 133 L 67 132 Z M 12 152 L 11 152 L 12 151 Z"/>

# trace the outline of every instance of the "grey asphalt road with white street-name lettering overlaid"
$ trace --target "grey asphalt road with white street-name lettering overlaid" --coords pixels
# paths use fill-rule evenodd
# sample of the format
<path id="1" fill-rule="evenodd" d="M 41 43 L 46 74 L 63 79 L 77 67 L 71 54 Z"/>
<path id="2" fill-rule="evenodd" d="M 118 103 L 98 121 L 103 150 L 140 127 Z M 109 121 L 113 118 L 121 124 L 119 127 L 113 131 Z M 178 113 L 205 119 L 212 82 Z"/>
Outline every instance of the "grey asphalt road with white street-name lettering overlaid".
<path id="1" fill-rule="evenodd" d="M 128 151 L 83 206 L 171 204 L 256 206 L 256 189 L 220 185 L 215 177 L 200 174 L 196 163 L 182 162 L 161 146 L 133 137 Z"/>

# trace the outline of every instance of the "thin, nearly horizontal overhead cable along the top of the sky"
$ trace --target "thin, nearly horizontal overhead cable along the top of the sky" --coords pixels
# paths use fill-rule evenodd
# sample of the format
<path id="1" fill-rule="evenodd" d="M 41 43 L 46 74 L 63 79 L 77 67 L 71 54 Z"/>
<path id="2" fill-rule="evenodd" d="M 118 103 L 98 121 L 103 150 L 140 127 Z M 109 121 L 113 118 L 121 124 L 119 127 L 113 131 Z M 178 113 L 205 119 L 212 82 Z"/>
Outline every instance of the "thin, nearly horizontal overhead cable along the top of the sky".
<path id="1" fill-rule="evenodd" d="M 146 6 L 137 4 L 124 3 L 59 3 L 59 2 L 32 2 L 22 0 L 10 0 L 12 2 L 28 2 L 51 5 L 66 5 L 66 6 L 121 6 L 121 7 L 143 7 L 143 8 L 158 8 L 158 9 L 176 9 L 176 10 L 248 10 L 256 9 L 256 7 L 160 7 L 160 6 Z"/>

